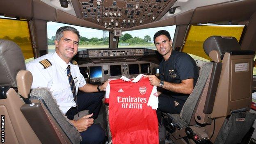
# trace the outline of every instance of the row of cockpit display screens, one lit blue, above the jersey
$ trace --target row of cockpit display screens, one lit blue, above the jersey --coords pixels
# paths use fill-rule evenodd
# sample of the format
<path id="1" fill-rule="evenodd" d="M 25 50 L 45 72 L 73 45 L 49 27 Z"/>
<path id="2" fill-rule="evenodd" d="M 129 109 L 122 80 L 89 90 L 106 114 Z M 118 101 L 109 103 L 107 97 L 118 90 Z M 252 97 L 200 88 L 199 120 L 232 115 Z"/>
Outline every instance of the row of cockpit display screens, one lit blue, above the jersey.
<path id="1" fill-rule="evenodd" d="M 136 78 L 140 73 L 149 75 L 157 66 L 152 62 L 136 61 L 104 64 L 88 63 L 79 65 L 79 69 L 87 82 L 101 83 L 110 78 L 121 78 L 122 75 L 126 78 Z"/>

